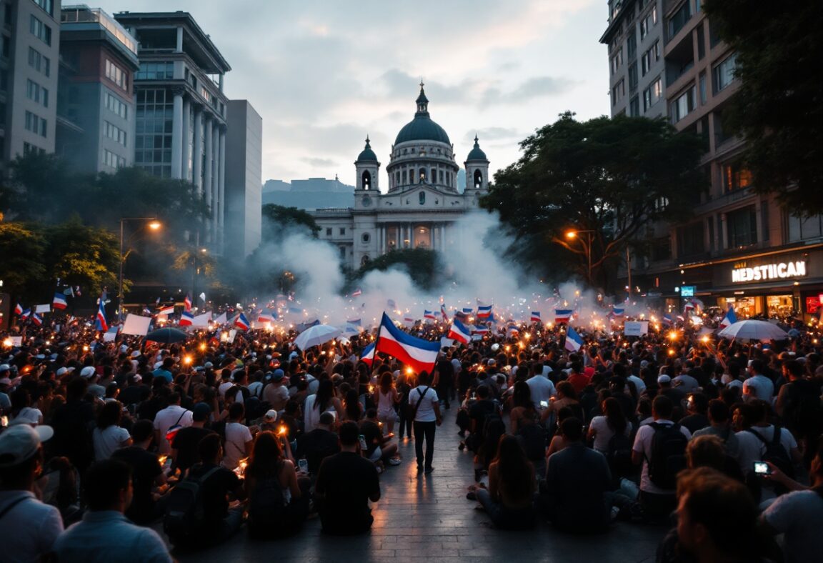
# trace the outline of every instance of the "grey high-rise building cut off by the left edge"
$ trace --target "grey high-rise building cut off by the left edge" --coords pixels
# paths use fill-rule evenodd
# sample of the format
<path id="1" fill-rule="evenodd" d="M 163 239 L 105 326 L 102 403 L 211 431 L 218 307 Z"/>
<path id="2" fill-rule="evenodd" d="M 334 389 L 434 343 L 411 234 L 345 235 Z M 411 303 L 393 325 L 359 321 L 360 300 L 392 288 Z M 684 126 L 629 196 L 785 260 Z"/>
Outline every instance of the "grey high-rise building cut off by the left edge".
<path id="1" fill-rule="evenodd" d="M 54 151 L 60 0 L 0 2 L 0 166 Z"/>

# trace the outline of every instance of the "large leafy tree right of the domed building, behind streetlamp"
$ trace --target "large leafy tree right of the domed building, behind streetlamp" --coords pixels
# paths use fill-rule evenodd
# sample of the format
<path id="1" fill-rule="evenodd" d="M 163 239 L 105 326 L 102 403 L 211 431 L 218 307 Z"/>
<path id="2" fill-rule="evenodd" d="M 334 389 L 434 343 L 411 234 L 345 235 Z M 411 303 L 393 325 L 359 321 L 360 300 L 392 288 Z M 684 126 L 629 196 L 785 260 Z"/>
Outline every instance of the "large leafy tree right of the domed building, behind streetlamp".
<path id="1" fill-rule="evenodd" d="M 567 112 L 520 147 L 523 156 L 495 174 L 481 204 L 522 240 L 576 255 L 584 277 L 590 256 L 591 285 L 605 284 L 603 266 L 644 239 L 649 223 L 687 216 L 706 186 L 697 168 L 700 138 L 664 119 L 579 122 Z M 591 248 L 589 233 L 570 240 L 569 230 L 592 231 Z"/>

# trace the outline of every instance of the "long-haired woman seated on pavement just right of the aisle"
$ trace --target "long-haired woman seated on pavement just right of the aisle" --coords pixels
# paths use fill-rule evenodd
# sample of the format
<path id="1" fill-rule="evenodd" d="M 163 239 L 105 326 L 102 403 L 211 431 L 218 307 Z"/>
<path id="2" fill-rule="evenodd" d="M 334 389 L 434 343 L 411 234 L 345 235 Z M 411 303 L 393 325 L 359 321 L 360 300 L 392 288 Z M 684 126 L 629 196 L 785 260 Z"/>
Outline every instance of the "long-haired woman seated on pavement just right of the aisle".
<path id="1" fill-rule="evenodd" d="M 534 467 L 513 435 L 500 437 L 497 456 L 489 466 L 489 488 L 477 487 L 475 492 L 498 528 L 534 526 Z"/>

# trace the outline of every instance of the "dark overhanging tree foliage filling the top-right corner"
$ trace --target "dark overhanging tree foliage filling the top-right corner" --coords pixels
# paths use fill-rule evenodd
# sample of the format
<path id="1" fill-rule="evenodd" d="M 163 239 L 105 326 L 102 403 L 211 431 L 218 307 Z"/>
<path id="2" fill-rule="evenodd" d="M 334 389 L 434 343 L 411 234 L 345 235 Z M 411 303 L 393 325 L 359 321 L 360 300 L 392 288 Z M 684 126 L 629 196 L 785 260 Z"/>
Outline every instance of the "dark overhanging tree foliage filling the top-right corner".
<path id="1" fill-rule="evenodd" d="M 795 215 L 823 213 L 820 2 L 708 0 L 712 30 L 736 52 L 740 89 L 724 126 L 746 141 L 753 188 Z"/>

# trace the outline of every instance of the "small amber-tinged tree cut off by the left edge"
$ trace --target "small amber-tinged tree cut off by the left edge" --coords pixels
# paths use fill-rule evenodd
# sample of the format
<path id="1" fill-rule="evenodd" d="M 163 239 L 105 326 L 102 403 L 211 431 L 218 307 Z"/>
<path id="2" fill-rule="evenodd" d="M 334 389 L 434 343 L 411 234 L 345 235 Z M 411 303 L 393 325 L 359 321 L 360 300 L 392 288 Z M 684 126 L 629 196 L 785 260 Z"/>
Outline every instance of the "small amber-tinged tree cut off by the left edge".
<path id="1" fill-rule="evenodd" d="M 0 222 L 0 279 L 13 295 L 33 296 L 29 282 L 43 280 L 45 240 L 22 223 Z"/>

